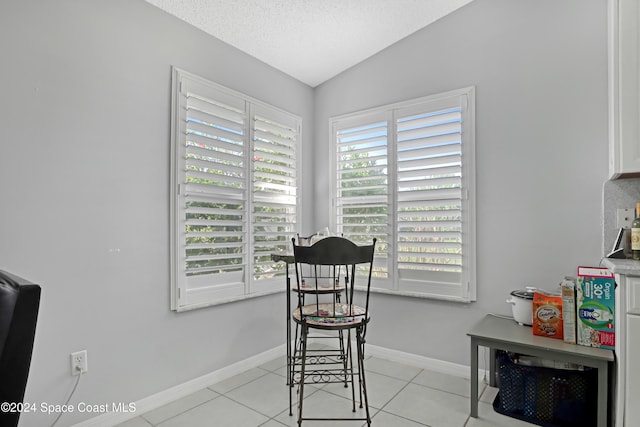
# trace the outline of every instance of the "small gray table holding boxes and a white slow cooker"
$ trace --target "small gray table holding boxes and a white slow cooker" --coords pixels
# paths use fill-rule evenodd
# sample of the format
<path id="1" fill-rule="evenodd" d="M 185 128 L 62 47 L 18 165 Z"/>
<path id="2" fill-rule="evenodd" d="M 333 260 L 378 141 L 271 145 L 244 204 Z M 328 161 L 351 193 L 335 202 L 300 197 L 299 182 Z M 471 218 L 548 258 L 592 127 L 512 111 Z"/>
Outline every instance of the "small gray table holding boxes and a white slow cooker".
<path id="1" fill-rule="evenodd" d="M 577 363 L 598 370 L 598 427 L 607 427 L 609 363 L 613 350 L 566 344 L 562 340 L 533 335 L 531 328 L 511 319 L 487 315 L 467 333 L 471 337 L 471 416 L 478 418 L 478 347 L 491 350 L 490 378 L 495 385 L 495 351 L 504 350 L 560 362 Z"/>

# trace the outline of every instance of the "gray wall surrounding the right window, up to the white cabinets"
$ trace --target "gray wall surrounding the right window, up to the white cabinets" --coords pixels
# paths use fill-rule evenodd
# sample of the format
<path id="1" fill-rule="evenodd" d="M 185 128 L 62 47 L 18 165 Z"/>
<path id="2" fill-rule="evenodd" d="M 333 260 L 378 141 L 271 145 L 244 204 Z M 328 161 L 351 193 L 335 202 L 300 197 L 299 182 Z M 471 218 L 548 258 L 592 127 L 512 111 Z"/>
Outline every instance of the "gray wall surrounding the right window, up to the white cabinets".
<path id="1" fill-rule="evenodd" d="M 553 289 L 598 264 L 606 43 L 605 0 L 475 0 L 316 89 L 316 158 L 330 155 L 331 116 L 477 90 L 477 302 L 375 295 L 369 343 L 468 364 L 466 331 L 511 314 L 511 290 Z M 322 200 L 329 170 L 316 176 Z"/>

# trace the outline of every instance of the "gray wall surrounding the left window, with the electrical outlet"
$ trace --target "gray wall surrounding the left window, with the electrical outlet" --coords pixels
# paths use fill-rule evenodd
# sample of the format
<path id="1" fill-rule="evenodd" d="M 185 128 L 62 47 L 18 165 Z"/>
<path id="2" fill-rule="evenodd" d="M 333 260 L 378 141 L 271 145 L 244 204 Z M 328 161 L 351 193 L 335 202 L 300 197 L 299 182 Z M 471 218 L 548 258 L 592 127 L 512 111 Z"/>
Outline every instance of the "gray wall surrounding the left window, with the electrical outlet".
<path id="1" fill-rule="evenodd" d="M 307 143 L 312 89 L 141 0 L 2 1 L 0 58 L 0 269 L 43 287 L 26 399 L 64 401 L 72 351 L 74 401 L 102 403 L 282 345 L 281 294 L 169 310 L 171 65 L 302 116 Z"/>

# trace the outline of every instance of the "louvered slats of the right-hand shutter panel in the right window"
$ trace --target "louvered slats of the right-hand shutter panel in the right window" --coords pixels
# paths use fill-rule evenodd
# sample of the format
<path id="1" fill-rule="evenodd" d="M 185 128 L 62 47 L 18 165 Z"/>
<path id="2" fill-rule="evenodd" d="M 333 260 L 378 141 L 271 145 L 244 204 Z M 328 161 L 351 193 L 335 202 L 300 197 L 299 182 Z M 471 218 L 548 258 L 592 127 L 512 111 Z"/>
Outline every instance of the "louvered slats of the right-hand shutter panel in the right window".
<path id="1" fill-rule="evenodd" d="M 459 100 L 396 113 L 396 253 L 400 288 L 427 272 L 460 283 L 462 115 Z"/>

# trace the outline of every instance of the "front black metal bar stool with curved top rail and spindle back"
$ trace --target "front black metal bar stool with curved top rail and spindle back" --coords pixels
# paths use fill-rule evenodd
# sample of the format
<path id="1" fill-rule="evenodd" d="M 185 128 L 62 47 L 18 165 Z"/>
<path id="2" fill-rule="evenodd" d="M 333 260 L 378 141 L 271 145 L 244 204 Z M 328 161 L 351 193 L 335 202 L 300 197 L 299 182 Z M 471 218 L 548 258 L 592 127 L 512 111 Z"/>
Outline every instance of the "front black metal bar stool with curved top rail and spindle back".
<path id="1" fill-rule="evenodd" d="M 325 293 L 298 292 L 298 306 L 292 317 L 300 328 L 299 349 L 294 351 L 291 372 L 291 385 L 296 384 L 299 392 L 298 426 L 307 420 L 366 421 L 367 425 L 371 425 L 364 372 L 364 343 L 370 319 L 369 291 L 375 243 L 376 239 L 373 239 L 371 245 L 358 246 L 342 237 L 327 237 L 311 246 L 298 246 L 295 244 L 295 239 L 293 240 L 298 289 L 303 289 L 303 286 L 320 289 L 323 285 L 328 286 L 329 290 L 334 290 Z M 344 301 L 336 297 L 337 289 L 342 284 L 345 291 Z M 356 288 L 358 293 L 355 292 Z M 342 350 L 337 352 L 342 355 L 341 358 L 329 365 L 318 366 L 315 363 L 317 360 L 310 358 L 311 353 L 307 345 L 311 330 L 320 330 L 325 333 L 334 331 L 341 338 L 346 332 L 346 345 L 340 346 Z M 355 355 L 351 344 L 352 333 L 356 339 Z M 355 370 L 354 356 L 357 365 Z M 299 371 L 296 371 L 296 367 Z M 326 417 L 314 418 L 303 416 L 305 384 L 329 382 L 351 385 L 353 412 L 356 411 L 355 386 L 357 384 L 360 407 L 365 408 L 366 416 L 364 418 L 338 418 L 330 417 L 329 414 Z"/>

